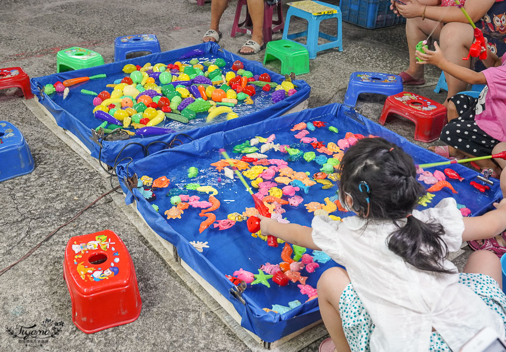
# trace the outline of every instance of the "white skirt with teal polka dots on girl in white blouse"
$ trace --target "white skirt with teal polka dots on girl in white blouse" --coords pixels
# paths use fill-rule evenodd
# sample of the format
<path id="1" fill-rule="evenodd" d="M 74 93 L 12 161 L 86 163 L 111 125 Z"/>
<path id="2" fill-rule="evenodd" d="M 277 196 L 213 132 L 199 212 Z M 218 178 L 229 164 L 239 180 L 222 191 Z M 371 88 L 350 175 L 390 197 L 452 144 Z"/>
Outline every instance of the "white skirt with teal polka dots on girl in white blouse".
<path id="1" fill-rule="evenodd" d="M 497 281 L 483 274 L 460 273 L 458 282 L 470 287 L 478 294 L 492 311 L 500 315 L 506 327 L 506 295 L 497 285 Z M 370 337 L 375 326 L 351 283 L 340 297 L 339 314 L 352 352 L 370 352 Z M 432 332 L 429 350 L 451 352 L 450 347 L 437 331 Z"/>

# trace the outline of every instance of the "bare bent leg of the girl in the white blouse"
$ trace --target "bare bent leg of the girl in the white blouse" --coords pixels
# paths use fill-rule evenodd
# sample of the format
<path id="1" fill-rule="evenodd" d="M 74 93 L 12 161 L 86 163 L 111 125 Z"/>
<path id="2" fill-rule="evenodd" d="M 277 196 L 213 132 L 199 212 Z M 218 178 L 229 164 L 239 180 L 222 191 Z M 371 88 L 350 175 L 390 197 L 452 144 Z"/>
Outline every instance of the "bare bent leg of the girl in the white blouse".
<path id="1" fill-rule="evenodd" d="M 350 346 L 343 331 L 339 314 L 339 298 L 350 283 L 350 278 L 342 268 L 330 268 L 318 280 L 318 305 L 321 318 L 338 352 L 350 352 Z"/>

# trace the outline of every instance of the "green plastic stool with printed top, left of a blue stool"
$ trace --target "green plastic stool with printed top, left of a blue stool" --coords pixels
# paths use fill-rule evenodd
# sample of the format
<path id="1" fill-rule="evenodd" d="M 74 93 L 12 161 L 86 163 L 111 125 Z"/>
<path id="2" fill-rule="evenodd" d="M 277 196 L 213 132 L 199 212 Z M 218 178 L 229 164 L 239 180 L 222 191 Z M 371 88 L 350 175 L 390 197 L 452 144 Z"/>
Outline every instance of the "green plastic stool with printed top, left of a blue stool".
<path id="1" fill-rule="evenodd" d="M 104 64 L 104 58 L 90 49 L 72 46 L 56 54 L 56 72 L 79 70 Z"/>

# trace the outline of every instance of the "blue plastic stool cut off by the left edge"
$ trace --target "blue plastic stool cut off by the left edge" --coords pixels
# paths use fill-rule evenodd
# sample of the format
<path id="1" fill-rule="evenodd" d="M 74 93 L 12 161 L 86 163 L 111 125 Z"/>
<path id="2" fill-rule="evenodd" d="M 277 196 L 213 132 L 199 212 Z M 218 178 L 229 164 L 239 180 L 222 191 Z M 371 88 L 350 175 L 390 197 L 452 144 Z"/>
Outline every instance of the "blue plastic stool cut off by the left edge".
<path id="1" fill-rule="evenodd" d="M 0 121 L 0 161 L 0 182 L 29 174 L 35 167 L 25 137 L 7 121 Z"/>

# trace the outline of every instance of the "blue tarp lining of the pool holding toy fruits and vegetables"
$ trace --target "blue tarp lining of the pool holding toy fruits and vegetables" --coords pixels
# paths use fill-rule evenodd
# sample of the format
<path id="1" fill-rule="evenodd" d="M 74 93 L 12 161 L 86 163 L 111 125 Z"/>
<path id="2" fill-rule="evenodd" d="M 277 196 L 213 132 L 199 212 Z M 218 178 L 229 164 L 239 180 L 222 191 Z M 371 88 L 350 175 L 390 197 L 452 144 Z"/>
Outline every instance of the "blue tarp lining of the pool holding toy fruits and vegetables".
<path id="1" fill-rule="evenodd" d="M 108 90 L 110 92 L 112 91 L 112 88 L 106 88 L 106 84 L 113 83 L 114 80 L 126 76 L 122 72 L 124 65 L 134 64 L 143 66 L 148 62 L 151 64 L 159 62 L 165 64 L 174 63 L 178 61 L 182 55 L 193 51 L 194 49 L 200 49 L 204 52 L 203 55 L 195 57 L 199 58 L 201 61 L 213 61 L 216 58 L 223 58 L 227 62 L 226 68 L 230 68 L 234 61 L 240 60 L 243 62 L 245 70 L 249 70 L 254 74 L 267 72 L 271 75 L 272 80 L 278 83 L 284 80 L 284 76 L 265 69 L 259 62 L 246 60 L 243 57 L 221 49 L 216 43 L 207 42 L 102 66 L 32 78 L 30 80 L 31 89 L 32 92 L 37 95 L 39 102 L 54 116 L 58 126 L 69 130 L 77 136 L 77 138 L 79 138 L 79 140 L 91 150 L 91 155 L 98 159 L 100 146 L 93 142 L 90 139 L 90 136 L 91 129 L 96 128 L 102 123 L 102 121 L 96 119 L 92 114 L 93 96 L 81 94 L 80 90 L 87 89 L 97 93 L 102 90 Z M 179 61 L 185 63 L 189 62 L 191 59 L 192 58 Z M 65 100 L 63 100 L 63 93 L 53 93 L 48 96 L 40 91 L 40 88 L 43 88 L 46 84 L 54 84 L 57 81 L 64 81 L 69 78 L 93 76 L 101 73 L 107 74 L 107 78 L 89 80 L 85 83 L 71 86 L 69 96 Z M 166 126 L 176 130 L 177 132 L 186 133 L 196 139 L 218 131 L 231 130 L 240 126 L 280 116 L 309 98 L 311 88 L 305 81 L 295 80 L 293 83 L 297 86 L 298 92 L 276 104 L 271 103 L 270 93 L 266 93 L 262 91 L 260 87 L 257 87 L 257 94 L 254 96 L 256 103 L 254 105 L 241 105 L 234 108 L 239 115 L 239 118 L 237 119 L 226 121 L 225 117 L 222 116 L 216 118 L 212 124 L 206 124 L 203 122 L 203 118 L 205 118 L 207 113 L 200 113 L 197 115 L 198 118 L 196 120 L 192 120 L 188 125 L 181 124 L 179 122 L 172 122 L 166 124 Z M 271 90 L 271 92 L 272 91 L 273 90 Z M 153 141 L 163 141 L 168 143 L 174 138 L 174 136 L 175 134 L 167 134 L 150 137 L 133 137 L 130 140 L 103 141 L 103 148 L 100 156 L 103 162 L 108 165 L 113 165 L 120 150 L 129 142 L 135 141 L 142 143 L 143 145 L 148 145 Z M 185 141 L 184 138 L 183 141 Z M 155 143 L 149 147 L 149 153 L 151 154 L 156 152 L 163 147 L 165 146 L 162 143 Z M 121 153 L 121 158 L 128 156 L 133 159 L 143 158 L 143 150 L 139 145 L 128 146 Z"/>

